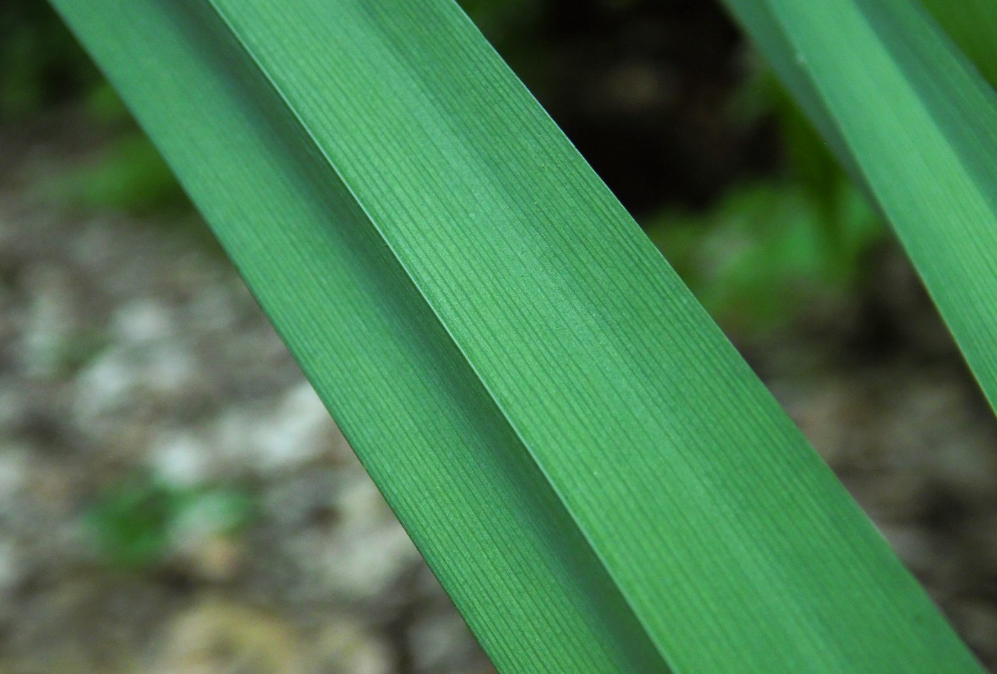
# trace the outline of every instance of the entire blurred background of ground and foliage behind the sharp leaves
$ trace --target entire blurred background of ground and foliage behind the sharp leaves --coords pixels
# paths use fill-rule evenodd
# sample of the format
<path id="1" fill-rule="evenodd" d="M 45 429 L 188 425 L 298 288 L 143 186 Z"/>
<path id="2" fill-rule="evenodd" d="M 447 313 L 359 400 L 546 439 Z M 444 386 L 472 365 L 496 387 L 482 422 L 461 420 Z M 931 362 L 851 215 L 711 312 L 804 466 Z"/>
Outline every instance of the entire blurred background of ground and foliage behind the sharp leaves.
<path id="1" fill-rule="evenodd" d="M 722 8 L 465 0 L 997 666 L 997 425 Z M 0 674 L 494 671 L 155 149 L 0 4 Z"/>

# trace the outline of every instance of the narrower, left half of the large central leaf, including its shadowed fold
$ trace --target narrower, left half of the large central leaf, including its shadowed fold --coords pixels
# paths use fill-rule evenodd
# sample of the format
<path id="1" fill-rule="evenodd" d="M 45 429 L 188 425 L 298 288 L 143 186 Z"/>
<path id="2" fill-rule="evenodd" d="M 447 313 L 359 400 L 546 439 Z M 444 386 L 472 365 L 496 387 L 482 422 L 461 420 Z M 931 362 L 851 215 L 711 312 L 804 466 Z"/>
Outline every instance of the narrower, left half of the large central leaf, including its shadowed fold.
<path id="1" fill-rule="evenodd" d="M 664 671 L 417 289 L 275 102 L 256 96 L 258 76 L 209 8 L 58 7 L 140 112 L 498 666 Z"/>

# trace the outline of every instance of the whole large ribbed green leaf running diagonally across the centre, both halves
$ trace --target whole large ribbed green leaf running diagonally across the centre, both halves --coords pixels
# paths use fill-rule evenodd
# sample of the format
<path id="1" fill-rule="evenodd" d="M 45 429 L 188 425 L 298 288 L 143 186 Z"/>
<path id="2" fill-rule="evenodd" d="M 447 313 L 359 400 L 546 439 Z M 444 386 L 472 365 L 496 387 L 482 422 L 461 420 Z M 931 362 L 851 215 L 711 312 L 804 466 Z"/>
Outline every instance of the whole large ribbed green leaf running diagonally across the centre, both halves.
<path id="1" fill-rule="evenodd" d="M 979 671 L 455 5 L 55 4 L 500 670 Z"/>

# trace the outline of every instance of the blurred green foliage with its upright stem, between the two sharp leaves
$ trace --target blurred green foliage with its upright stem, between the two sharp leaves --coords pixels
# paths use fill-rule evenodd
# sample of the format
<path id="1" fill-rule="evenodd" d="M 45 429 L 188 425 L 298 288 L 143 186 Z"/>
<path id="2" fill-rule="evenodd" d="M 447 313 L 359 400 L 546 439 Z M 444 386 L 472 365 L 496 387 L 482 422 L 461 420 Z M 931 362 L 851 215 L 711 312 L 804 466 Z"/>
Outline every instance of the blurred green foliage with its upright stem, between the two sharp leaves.
<path id="1" fill-rule="evenodd" d="M 728 331 L 760 334 L 834 312 L 860 290 L 885 240 L 881 218 L 771 71 L 755 67 L 731 113 L 775 120 L 782 169 L 704 210 L 665 209 L 644 223 L 648 234 Z"/>

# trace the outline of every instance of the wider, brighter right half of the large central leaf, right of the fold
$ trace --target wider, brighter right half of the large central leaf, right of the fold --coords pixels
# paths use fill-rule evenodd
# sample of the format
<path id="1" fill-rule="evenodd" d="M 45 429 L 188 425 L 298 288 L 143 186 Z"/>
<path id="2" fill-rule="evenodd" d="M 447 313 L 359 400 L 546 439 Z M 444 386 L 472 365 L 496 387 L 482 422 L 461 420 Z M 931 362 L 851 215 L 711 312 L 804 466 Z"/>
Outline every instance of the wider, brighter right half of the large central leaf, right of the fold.
<path id="1" fill-rule="evenodd" d="M 827 509 L 839 505 L 850 522 L 853 504 L 569 144 L 534 132 L 546 118 L 535 104 L 516 105 L 514 79 L 482 68 L 477 87 L 466 81 L 460 64 L 488 64 L 492 53 L 466 37 L 463 17 L 434 3 L 302 2 L 290 13 L 214 4 L 364 204 L 670 662 L 693 666 L 676 657 L 681 644 L 719 643 L 734 629 L 731 615 L 755 625 L 780 614 L 770 632 L 741 635 L 770 670 L 777 660 L 805 667 L 822 650 L 841 666 L 860 653 L 878 664 L 879 642 L 913 633 L 909 620 L 890 626 L 881 607 L 861 616 L 840 594 L 876 575 L 863 563 L 894 562 L 886 552 L 856 563 L 837 536 L 873 550 L 878 535 L 835 527 Z M 434 29 L 407 30 L 420 24 Z M 301 68 L 293 51 L 302 44 L 328 56 Z M 432 58 L 439 54 L 456 58 Z M 353 71 L 377 73 L 376 84 L 340 75 Z M 462 88 L 471 95 L 453 95 Z M 486 205 L 484 219 L 469 218 L 467 204 Z M 473 254 L 455 246 L 468 241 L 469 225 Z M 541 282 L 510 300 L 509 278 L 531 275 Z M 753 405 L 745 415 L 707 416 L 742 400 Z M 768 451 L 724 456 L 739 446 Z M 753 482 L 762 474 L 770 489 Z M 600 490 L 574 487 L 593 480 Z M 735 518 L 744 530 L 710 530 Z M 815 530 L 835 533 L 801 544 Z M 690 541 L 695 552 L 679 543 L 663 555 L 673 544 L 665 541 Z M 697 577 L 716 586 L 662 583 Z M 809 587 L 798 601 L 812 595 L 819 615 L 849 604 L 868 641 L 844 637 L 853 625 L 835 634 L 831 619 L 804 620 L 807 608 L 773 602 L 772 580 Z M 842 604 L 829 610 L 835 594 Z M 725 597 L 723 617 L 715 595 Z M 732 654 L 703 648 L 695 658 L 708 670 L 729 666 Z"/>

